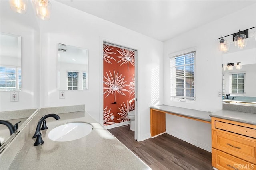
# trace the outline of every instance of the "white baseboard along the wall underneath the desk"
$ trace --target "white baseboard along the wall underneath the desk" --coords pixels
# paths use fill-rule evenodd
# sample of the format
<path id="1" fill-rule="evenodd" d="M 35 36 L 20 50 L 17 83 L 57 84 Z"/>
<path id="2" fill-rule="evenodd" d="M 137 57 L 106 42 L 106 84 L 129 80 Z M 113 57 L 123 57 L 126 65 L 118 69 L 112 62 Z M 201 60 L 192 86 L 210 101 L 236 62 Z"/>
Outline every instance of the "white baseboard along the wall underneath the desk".
<path id="1" fill-rule="evenodd" d="M 187 136 L 183 136 L 180 133 L 176 133 L 174 131 L 166 131 L 166 133 L 169 134 L 169 135 L 172 135 L 172 136 L 174 136 L 176 138 L 179 138 L 182 141 L 186 141 L 186 142 L 188 142 L 188 143 L 190 143 L 192 145 L 195 145 L 196 147 L 204 149 L 204 150 L 206 150 L 208 152 L 212 152 L 212 146 L 207 146 L 204 143 L 201 143 L 200 141 L 197 141 L 197 140 L 192 139 L 192 138 L 187 137 Z"/>

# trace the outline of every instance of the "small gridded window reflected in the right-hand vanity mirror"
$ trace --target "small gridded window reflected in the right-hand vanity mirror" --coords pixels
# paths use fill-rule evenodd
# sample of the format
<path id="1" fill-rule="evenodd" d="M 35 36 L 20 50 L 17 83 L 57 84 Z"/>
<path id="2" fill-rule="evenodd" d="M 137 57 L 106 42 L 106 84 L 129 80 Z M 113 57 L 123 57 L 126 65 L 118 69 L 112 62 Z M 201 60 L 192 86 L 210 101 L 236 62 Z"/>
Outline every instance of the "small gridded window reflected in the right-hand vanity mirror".
<path id="1" fill-rule="evenodd" d="M 230 93 L 244 94 L 244 76 L 245 73 L 231 74 L 230 75 Z"/>

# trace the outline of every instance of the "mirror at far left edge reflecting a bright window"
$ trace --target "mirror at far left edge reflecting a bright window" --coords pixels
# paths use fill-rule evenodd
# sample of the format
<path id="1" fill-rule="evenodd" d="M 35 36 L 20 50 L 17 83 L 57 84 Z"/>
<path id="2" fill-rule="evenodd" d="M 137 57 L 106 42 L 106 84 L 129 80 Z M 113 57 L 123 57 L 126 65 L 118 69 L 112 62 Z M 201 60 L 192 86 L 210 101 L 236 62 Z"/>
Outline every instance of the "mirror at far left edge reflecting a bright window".
<path id="1" fill-rule="evenodd" d="M 21 90 L 21 36 L 0 34 L 0 91 Z"/>

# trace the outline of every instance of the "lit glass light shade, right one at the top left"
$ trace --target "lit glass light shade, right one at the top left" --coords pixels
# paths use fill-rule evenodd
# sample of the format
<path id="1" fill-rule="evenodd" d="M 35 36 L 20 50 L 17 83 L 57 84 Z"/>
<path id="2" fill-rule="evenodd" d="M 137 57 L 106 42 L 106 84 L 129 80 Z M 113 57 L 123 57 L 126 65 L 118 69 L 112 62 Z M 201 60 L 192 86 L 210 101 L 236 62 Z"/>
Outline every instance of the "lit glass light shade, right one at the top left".
<path id="1" fill-rule="evenodd" d="M 42 20 L 49 20 L 50 19 L 50 14 L 51 14 L 51 9 L 52 9 L 52 4 L 50 1 L 37 1 L 35 4 L 36 7 L 36 16 L 38 16 Z"/>

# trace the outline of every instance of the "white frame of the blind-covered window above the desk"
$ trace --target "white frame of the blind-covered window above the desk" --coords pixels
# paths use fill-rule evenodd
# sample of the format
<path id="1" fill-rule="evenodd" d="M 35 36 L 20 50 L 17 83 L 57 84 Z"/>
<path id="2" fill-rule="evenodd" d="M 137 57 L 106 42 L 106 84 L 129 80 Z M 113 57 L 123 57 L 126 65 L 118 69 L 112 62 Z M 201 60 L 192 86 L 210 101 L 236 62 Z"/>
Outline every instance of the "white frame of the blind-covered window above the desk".
<path id="1" fill-rule="evenodd" d="M 176 82 L 175 82 L 175 84 L 172 84 L 173 79 L 176 79 L 176 71 L 175 71 L 175 75 L 172 73 L 172 71 L 173 71 L 173 69 L 176 68 L 176 66 L 172 65 L 171 61 L 173 60 L 173 58 L 180 57 L 182 55 L 186 55 L 186 54 L 190 54 L 190 53 L 194 53 L 194 56 L 193 56 L 194 57 L 194 63 L 193 63 L 194 64 L 194 76 L 193 76 L 194 77 L 194 88 L 193 88 L 194 89 L 194 97 L 186 96 L 186 91 L 184 92 L 184 96 L 173 95 L 173 93 L 176 93 L 176 90 L 174 90 L 174 88 L 176 88 Z M 180 102 L 195 102 L 196 101 L 196 47 L 192 47 L 189 49 L 171 53 L 168 56 L 170 58 L 170 100 L 171 101 L 180 101 Z M 193 65 L 193 64 L 191 64 L 191 65 Z M 186 66 L 186 64 L 184 64 L 183 66 Z M 174 77 L 173 77 L 173 75 L 174 75 Z M 186 84 L 184 84 L 184 90 L 186 90 Z"/>

